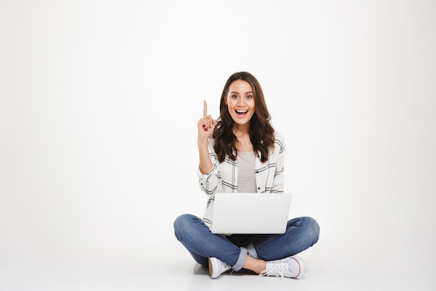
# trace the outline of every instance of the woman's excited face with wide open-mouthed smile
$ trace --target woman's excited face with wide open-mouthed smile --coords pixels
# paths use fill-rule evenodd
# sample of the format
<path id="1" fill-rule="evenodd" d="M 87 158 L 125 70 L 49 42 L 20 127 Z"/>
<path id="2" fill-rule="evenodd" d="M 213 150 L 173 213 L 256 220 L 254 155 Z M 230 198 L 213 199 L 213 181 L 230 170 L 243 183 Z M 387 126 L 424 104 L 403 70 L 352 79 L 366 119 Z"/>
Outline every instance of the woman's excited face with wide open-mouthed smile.
<path id="1" fill-rule="evenodd" d="M 254 91 L 249 82 L 236 80 L 231 83 L 227 90 L 226 104 L 236 124 L 249 124 L 255 111 Z"/>

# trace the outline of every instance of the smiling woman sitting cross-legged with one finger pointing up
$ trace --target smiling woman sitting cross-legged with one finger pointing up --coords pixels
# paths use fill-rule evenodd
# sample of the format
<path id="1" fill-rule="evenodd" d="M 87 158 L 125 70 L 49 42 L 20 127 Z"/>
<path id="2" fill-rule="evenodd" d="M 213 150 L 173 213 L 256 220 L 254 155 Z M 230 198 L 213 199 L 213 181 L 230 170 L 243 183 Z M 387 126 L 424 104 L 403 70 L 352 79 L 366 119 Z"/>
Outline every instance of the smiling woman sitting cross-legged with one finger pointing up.
<path id="1" fill-rule="evenodd" d="M 198 121 L 198 181 L 208 195 L 203 218 L 182 214 L 174 221 L 176 238 L 211 278 L 233 269 L 260 276 L 299 278 L 304 262 L 297 253 L 318 241 L 320 228 L 310 217 L 288 221 L 284 234 L 212 234 L 215 193 L 283 193 L 283 137 L 272 128 L 263 91 L 247 72 L 228 78 L 219 119 L 203 103 Z"/>

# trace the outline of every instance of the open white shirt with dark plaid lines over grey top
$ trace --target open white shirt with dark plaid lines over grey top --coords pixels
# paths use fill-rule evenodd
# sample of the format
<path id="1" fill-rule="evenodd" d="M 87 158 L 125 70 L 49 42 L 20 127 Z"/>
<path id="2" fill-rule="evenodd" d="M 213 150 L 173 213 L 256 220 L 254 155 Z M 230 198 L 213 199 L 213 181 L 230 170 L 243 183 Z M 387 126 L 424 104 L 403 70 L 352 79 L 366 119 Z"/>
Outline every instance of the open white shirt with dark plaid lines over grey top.
<path id="1" fill-rule="evenodd" d="M 201 190 L 206 193 L 208 203 L 203 214 L 203 221 L 207 225 L 212 224 L 212 211 L 215 200 L 215 193 L 237 193 L 238 192 L 238 163 L 228 158 L 224 162 L 217 161 L 217 154 L 214 150 L 215 140 L 209 137 L 208 149 L 213 167 L 208 174 L 203 174 L 200 167 L 197 168 L 198 183 Z M 284 153 L 285 142 L 280 133 L 275 133 L 275 148 L 268 153 L 268 161 L 262 163 L 256 156 L 254 176 L 258 193 L 283 193 L 284 189 Z M 260 152 L 258 153 L 260 156 Z"/>

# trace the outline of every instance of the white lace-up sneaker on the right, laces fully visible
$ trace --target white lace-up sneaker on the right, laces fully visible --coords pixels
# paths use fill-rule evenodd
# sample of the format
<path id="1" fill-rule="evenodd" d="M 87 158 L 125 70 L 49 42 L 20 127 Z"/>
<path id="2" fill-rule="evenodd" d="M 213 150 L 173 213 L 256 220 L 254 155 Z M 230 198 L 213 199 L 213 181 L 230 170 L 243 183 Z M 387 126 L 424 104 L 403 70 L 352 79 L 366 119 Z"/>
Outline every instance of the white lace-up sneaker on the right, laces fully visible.
<path id="1" fill-rule="evenodd" d="M 259 276 L 279 276 L 281 278 L 298 278 L 306 273 L 306 265 L 297 255 L 267 262 L 267 269 L 261 271 Z"/>

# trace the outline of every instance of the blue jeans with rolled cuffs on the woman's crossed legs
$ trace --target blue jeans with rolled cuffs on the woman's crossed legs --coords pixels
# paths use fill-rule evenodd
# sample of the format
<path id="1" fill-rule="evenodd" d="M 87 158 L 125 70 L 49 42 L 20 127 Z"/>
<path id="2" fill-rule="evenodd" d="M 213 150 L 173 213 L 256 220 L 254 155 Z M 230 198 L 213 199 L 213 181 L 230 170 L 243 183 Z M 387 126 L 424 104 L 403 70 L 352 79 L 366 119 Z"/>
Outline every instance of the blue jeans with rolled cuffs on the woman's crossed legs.
<path id="1" fill-rule="evenodd" d="M 212 234 L 208 225 L 197 216 L 182 214 L 174 221 L 174 234 L 198 264 L 207 267 L 208 258 L 215 257 L 231 265 L 233 270 L 239 271 L 245 264 L 247 255 L 265 261 L 297 255 L 316 244 L 320 227 L 315 219 L 304 216 L 288 221 L 284 234 L 262 234 L 233 239 L 233 236 Z"/>

